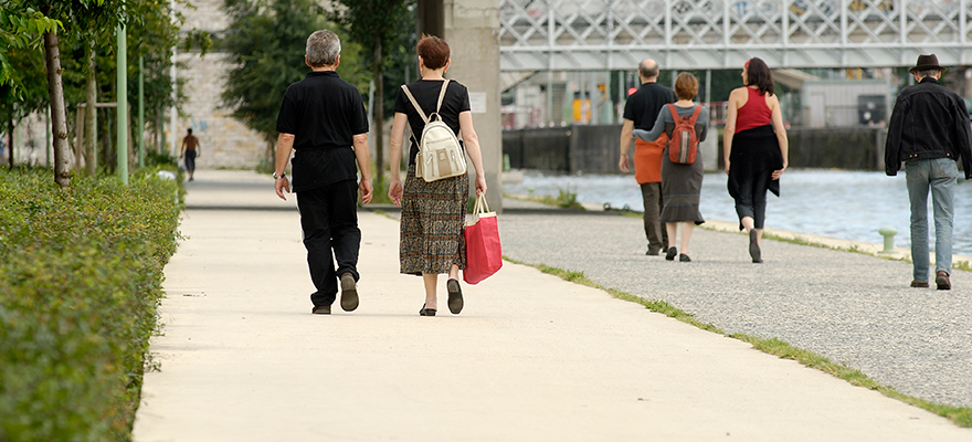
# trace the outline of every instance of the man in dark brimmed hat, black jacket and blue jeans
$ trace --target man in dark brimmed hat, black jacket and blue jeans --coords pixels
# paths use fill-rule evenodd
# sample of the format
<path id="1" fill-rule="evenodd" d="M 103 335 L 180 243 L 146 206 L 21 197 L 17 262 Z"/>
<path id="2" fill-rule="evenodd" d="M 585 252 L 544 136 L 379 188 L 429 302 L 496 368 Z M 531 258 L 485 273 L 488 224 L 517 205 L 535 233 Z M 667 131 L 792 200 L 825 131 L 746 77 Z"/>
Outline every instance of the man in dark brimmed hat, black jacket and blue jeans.
<path id="1" fill-rule="evenodd" d="M 938 81 L 945 69 L 934 54 L 918 56 L 910 70 L 918 84 L 901 90 L 885 147 L 885 168 L 895 176 L 905 164 L 911 200 L 912 287 L 928 287 L 928 190 L 934 207 L 934 283 L 951 290 L 952 199 L 962 158 L 965 179 L 972 179 L 972 127 L 965 102 Z"/>

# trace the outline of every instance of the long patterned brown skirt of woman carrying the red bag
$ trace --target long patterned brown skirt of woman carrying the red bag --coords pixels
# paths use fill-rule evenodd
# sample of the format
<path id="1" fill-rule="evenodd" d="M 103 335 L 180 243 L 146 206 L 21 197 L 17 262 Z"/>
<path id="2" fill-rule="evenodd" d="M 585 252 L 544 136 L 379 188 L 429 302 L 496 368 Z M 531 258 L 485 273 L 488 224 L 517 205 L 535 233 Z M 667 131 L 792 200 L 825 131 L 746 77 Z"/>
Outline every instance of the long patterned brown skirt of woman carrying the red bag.
<path id="1" fill-rule="evenodd" d="M 448 273 L 453 264 L 466 269 L 466 204 L 468 176 L 425 182 L 409 166 L 402 194 L 401 273 Z"/>

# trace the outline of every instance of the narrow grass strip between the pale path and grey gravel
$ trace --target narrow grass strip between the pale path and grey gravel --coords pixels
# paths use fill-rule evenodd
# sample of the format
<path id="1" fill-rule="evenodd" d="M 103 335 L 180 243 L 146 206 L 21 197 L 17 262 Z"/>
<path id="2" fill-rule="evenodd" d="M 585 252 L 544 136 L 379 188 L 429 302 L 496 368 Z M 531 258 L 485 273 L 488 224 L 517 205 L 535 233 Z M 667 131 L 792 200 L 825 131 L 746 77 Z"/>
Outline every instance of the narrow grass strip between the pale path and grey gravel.
<path id="1" fill-rule="evenodd" d="M 540 272 L 543 272 L 549 275 L 559 276 L 560 278 L 568 281 L 568 282 L 571 282 L 571 283 L 574 283 L 574 284 L 580 284 L 580 285 L 584 285 L 588 287 L 602 290 L 604 292 L 608 292 L 609 294 L 611 294 L 611 296 L 613 296 L 615 298 L 632 302 L 635 304 L 641 304 L 645 308 L 647 308 L 652 312 L 661 313 L 665 316 L 678 319 L 683 323 L 694 325 L 694 326 L 701 328 L 706 332 L 717 333 L 717 334 L 728 336 L 733 339 L 739 339 L 739 340 L 749 343 L 750 345 L 752 345 L 752 347 L 754 349 L 760 350 L 762 352 L 770 354 L 770 355 L 773 355 L 773 356 L 776 356 L 776 357 L 780 357 L 783 359 L 795 360 L 806 367 L 814 368 L 814 369 L 821 370 L 825 373 L 828 373 L 831 376 L 843 379 L 853 386 L 864 387 L 869 390 L 876 390 L 888 398 L 897 399 L 897 400 L 902 401 L 905 403 L 909 403 L 911 406 L 928 410 L 932 413 L 936 413 L 938 415 L 941 415 L 943 418 L 949 419 L 950 421 L 954 422 L 959 427 L 972 428 L 972 408 L 952 407 L 952 406 L 929 402 L 925 399 L 919 399 L 919 398 L 916 398 L 912 396 L 901 393 L 891 387 L 885 386 L 874 379 L 868 378 L 867 375 L 864 375 L 863 372 L 860 372 L 859 370 L 857 370 L 855 368 L 847 367 L 844 364 L 834 362 L 822 355 L 817 355 L 813 351 L 796 348 L 796 347 L 794 347 L 783 340 L 776 339 L 776 338 L 767 339 L 767 338 L 760 338 L 760 337 L 750 336 L 750 335 L 746 335 L 746 334 L 739 334 L 739 333 L 731 334 L 731 335 L 727 334 L 723 330 L 721 330 L 719 327 L 716 327 L 715 325 L 709 324 L 709 323 L 702 323 L 702 322 L 698 320 L 695 317 L 695 315 L 687 313 L 687 312 L 684 312 L 684 311 L 673 306 L 672 304 L 668 304 L 665 301 L 645 299 L 641 296 L 635 296 L 630 293 L 622 292 L 622 291 L 619 291 L 615 288 L 606 288 L 603 285 L 591 281 L 589 277 L 587 277 L 584 275 L 584 272 L 567 271 L 567 270 L 562 270 L 562 269 L 551 267 L 546 264 L 529 264 L 529 263 L 519 262 L 519 261 L 509 259 L 508 256 L 504 256 L 504 260 L 511 262 L 514 264 L 522 264 L 522 265 L 527 265 L 530 267 L 535 267 L 535 269 L 539 270 Z"/>

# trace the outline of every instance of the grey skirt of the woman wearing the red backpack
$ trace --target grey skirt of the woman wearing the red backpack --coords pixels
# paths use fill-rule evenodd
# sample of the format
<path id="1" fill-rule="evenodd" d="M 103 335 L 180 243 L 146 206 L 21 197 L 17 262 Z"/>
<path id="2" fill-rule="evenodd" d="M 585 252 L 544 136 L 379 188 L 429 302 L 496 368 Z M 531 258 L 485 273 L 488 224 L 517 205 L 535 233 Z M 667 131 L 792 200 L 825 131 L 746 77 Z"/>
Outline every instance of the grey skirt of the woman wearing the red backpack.
<path id="1" fill-rule="evenodd" d="M 668 147 L 662 154 L 662 222 L 706 222 L 698 210 L 702 191 L 702 156 L 698 152 L 695 162 L 679 165 L 668 158 Z"/>

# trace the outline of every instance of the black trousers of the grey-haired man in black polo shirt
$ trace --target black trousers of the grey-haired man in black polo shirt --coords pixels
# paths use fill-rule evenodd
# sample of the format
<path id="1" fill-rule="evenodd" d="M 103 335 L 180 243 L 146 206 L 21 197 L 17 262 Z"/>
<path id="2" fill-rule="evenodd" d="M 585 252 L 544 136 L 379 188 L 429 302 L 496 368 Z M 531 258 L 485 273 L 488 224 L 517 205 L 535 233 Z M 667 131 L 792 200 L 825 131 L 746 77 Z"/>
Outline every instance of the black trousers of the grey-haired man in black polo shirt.
<path id="1" fill-rule="evenodd" d="M 359 277 L 358 183 L 344 180 L 297 192 L 297 210 L 300 211 L 310 281 L 317 287 L 317 292 L 310 294 L 310 302 L 331 305 L 338 293 L 338 277 L 348 272 L 355 281 Z"/>

